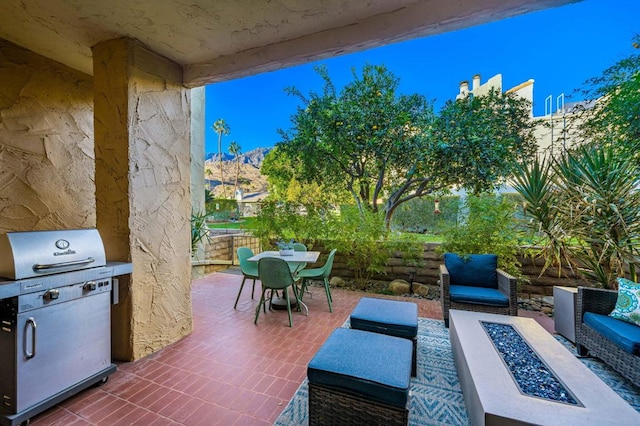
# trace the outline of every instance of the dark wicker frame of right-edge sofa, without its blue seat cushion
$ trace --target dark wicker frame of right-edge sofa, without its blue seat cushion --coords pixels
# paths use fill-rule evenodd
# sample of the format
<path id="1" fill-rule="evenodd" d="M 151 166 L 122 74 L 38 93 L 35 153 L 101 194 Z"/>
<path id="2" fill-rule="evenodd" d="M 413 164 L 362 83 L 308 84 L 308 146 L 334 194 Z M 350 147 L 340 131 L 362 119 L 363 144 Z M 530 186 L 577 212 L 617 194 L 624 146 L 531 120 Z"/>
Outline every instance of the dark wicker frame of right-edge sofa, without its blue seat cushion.
<path id="1" fill-rule="evenodd" d="M 576 350 L 578 355 L 590 354 L 600 358 L 634 385 L 640 386 L 640 356 L 621 349 L 583 322 L 584 314 L 587 312 L 608 315 L 615 307 L 617 298 L 618 294 L 614 290 L 578 287 Z"/>

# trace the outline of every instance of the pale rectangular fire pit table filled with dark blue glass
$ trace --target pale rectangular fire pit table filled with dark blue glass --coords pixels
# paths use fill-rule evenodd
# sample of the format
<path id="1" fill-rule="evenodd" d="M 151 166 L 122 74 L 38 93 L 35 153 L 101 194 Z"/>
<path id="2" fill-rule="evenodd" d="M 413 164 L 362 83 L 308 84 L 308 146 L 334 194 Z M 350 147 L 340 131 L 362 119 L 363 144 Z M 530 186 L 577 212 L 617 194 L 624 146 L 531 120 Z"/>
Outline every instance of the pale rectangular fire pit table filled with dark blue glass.
<path id="1" fill-rule="evenodd" d="M 633 407 L 531 318 L 452 310 L 449 338 L 471 424 L 640 424 Z"/>

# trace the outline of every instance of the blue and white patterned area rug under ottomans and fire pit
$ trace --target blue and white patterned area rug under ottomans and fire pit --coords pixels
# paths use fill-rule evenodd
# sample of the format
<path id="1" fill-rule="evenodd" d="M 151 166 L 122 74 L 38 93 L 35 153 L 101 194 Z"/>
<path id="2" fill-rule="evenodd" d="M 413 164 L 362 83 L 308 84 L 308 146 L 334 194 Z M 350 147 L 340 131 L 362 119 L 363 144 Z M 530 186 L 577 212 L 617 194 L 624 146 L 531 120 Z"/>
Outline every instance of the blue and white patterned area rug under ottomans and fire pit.
<path id="1" fill-rule="evenodd" d="M 344 326 L 349 326 L 348 320 Z M 557 339 L 572 353 L 576 353 L 571 342 L 561 336 L 557 336 Z M 596 359 L 580 360 L 640 412 L 640 389 Z M 449 344 L 449 330 L 442 321 L 427 318 L 418 320 L 418 376 L 411 378 L 410 392 L 409 425 L 469 424 Z M 307 425 L 307 395 L 305 380 L 275 425 Z"/>

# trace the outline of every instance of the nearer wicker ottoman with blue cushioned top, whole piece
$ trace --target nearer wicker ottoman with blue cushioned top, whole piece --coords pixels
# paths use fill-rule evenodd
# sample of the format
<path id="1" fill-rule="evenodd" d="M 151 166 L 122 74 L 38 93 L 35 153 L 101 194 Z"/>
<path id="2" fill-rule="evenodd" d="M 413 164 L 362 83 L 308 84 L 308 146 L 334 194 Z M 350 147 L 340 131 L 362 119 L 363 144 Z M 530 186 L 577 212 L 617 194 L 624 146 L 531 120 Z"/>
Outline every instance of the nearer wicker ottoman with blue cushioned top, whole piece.
<path id="1" fill-rule="evenodd" d="M 406 425 L 411 343 L 338 328 L 307 367 L 310 425 Z"/>

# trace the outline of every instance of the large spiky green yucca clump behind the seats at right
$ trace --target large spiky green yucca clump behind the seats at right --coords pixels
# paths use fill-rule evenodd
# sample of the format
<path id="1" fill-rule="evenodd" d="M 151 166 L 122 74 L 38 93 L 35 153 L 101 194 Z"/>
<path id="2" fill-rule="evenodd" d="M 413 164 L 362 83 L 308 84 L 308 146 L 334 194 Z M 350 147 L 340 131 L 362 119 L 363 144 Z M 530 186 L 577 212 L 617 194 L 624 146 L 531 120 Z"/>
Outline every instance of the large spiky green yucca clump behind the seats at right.
<path id="1" fill-rule="evenodd" d="M 545 268 L 580 263 L 585 278 L 616 288 L 637 281 L 640 260 L 640 175 L 611 147 L 582 146 L 552 160 L 536 159 L 515 177 L 532 226 L 545 236 Z"/>

